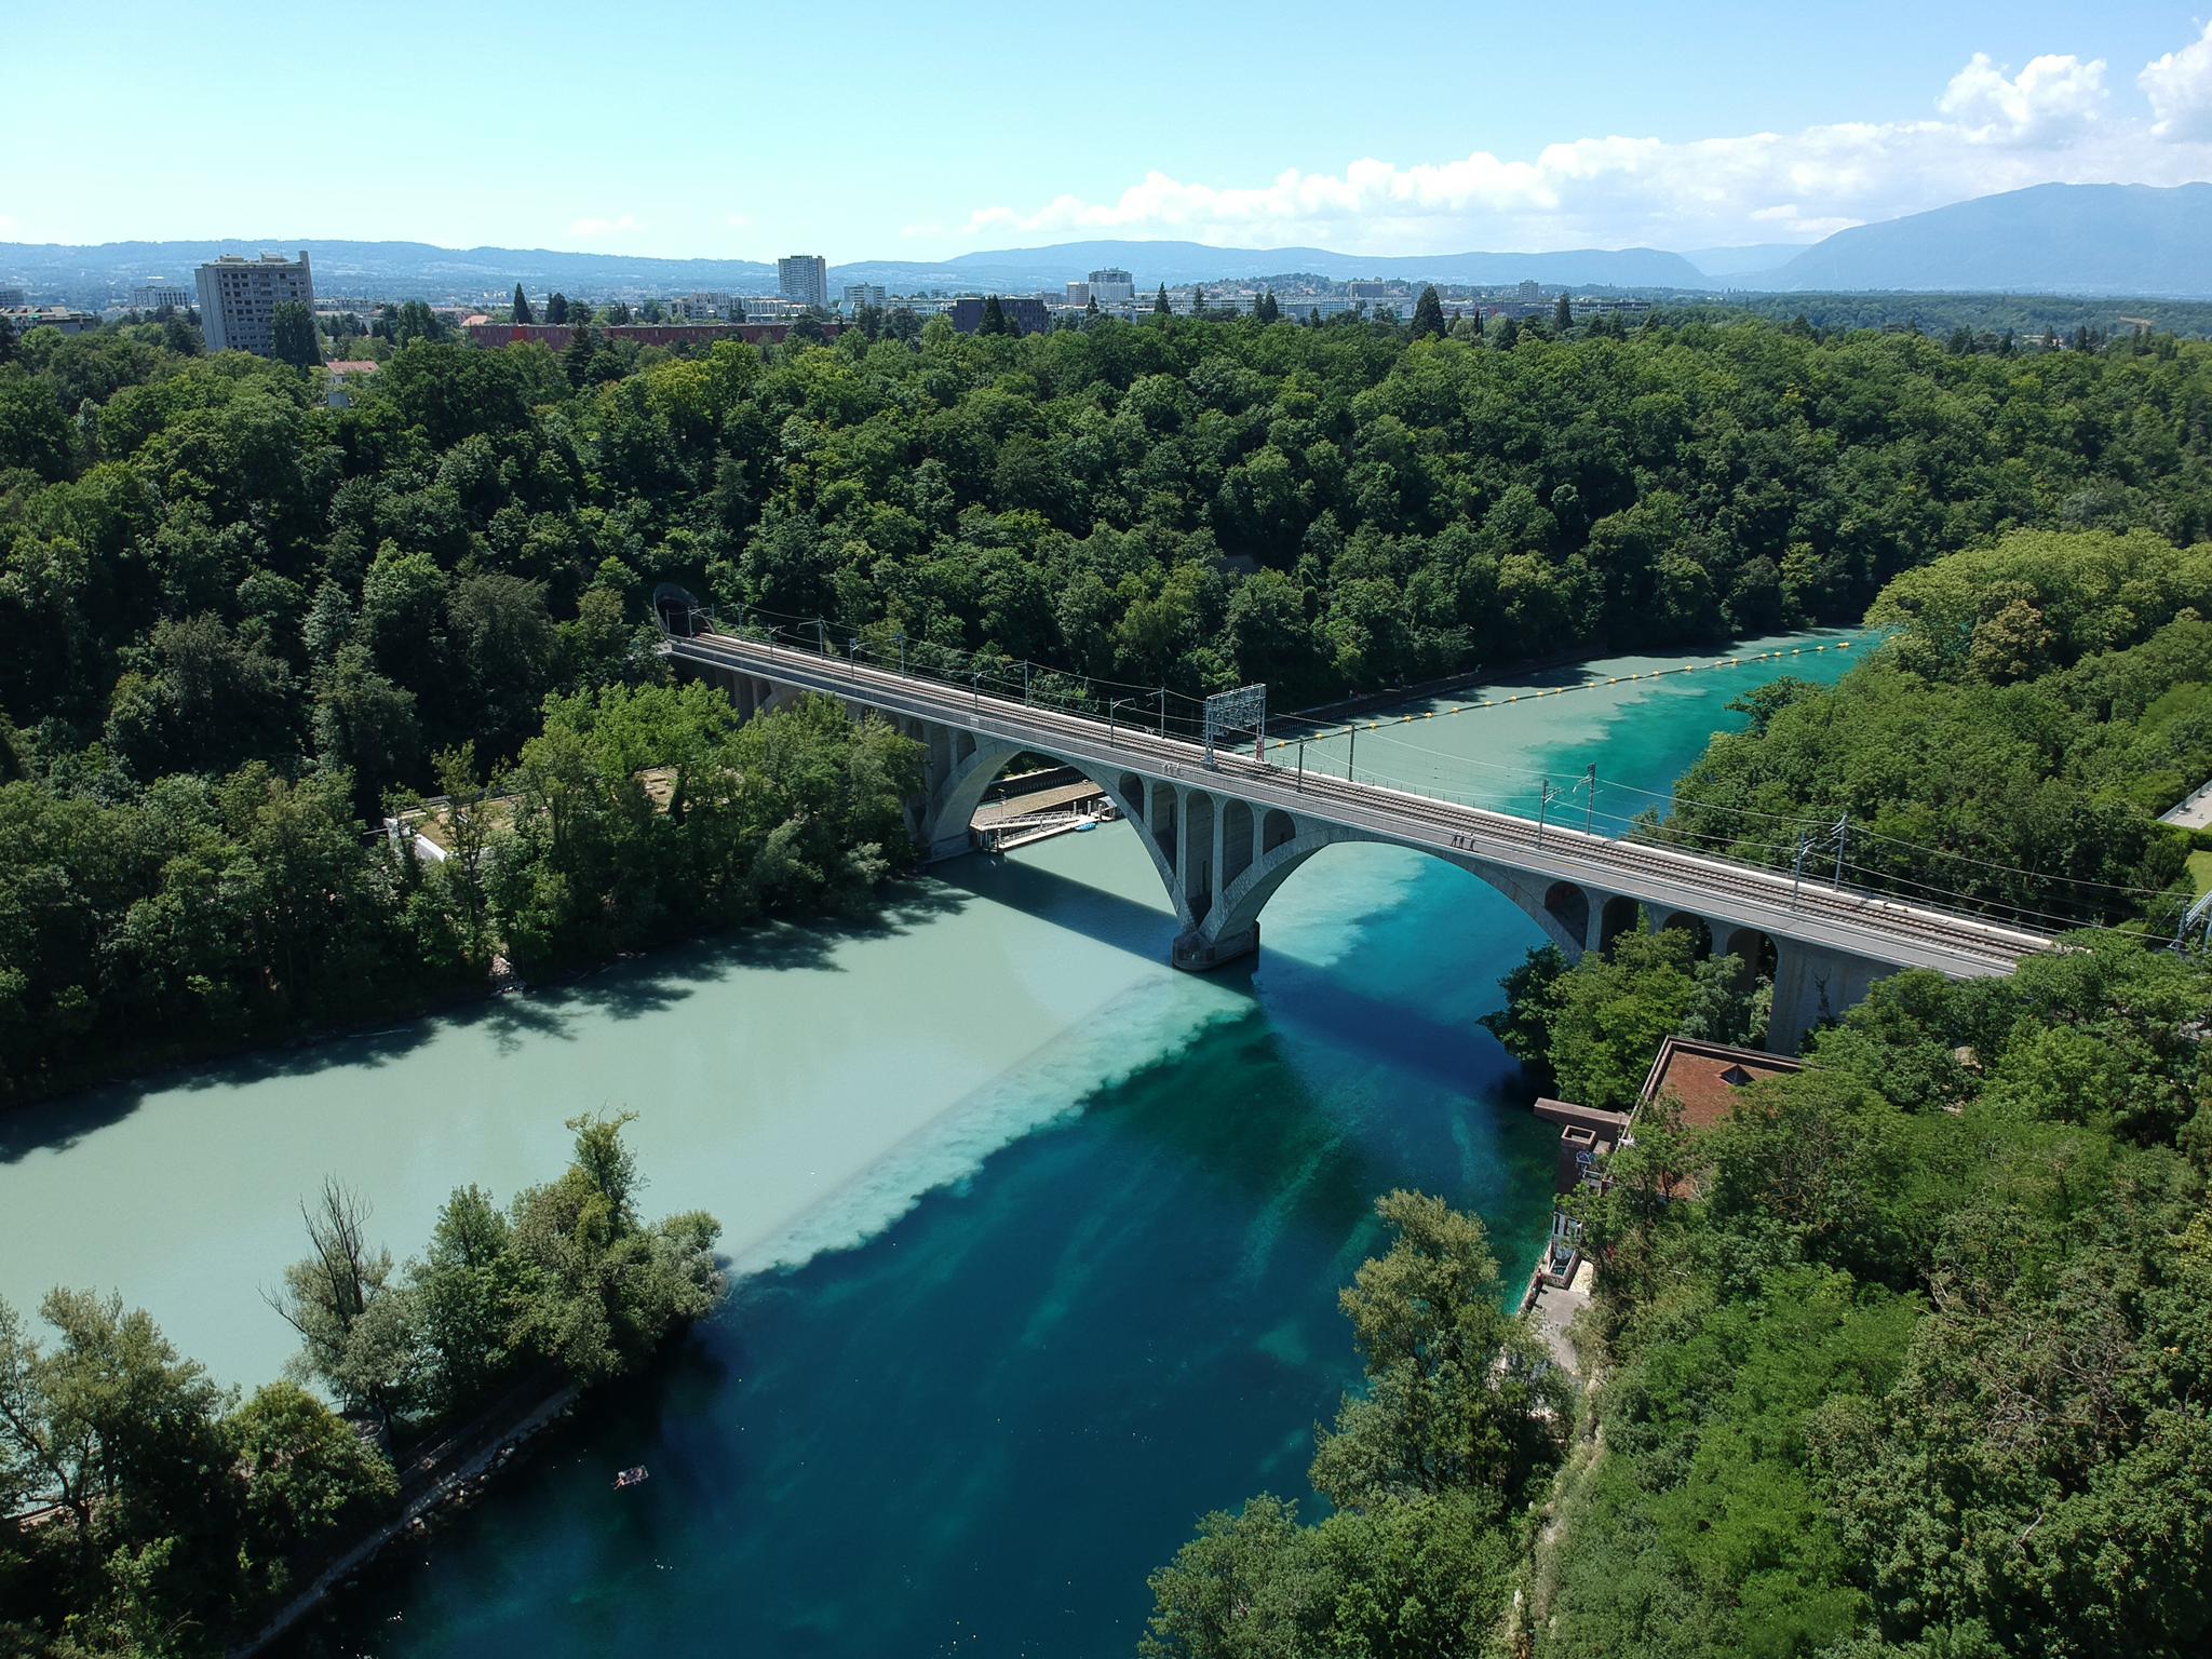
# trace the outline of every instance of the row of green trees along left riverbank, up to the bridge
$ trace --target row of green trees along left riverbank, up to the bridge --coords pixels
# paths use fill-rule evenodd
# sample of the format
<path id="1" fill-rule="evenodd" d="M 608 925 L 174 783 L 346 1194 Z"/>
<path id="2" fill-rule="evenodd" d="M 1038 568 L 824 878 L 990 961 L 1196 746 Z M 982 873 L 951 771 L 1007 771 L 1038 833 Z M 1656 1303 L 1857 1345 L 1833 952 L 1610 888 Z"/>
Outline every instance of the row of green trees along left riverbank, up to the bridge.
<path id="1" fill-rule="evenodd" d="M 343 776 L 62 794 L 0 768 L 0 1106 L 482 995 L 495 958 L 538 980 L 865 911 L 914 860 L 920 745 L 823 697 L 739 726 L 708 686 L 604 686 L 438 781 L 429 860 Z"/>

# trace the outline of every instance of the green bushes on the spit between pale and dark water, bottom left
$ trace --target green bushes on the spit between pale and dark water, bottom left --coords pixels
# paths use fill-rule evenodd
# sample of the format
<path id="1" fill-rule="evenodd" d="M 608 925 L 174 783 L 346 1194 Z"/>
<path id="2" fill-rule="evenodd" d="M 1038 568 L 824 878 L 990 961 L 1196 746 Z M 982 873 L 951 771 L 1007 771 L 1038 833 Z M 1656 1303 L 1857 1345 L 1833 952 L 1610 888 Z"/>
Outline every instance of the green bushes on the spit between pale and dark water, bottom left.
<path id="1" fill-rule="evenodd" d="M 0 1303 L 0 1652 L 254 1648 L 706 1316 L 721 1223 L 639 1219 L 630 1117 L 504 1208 L 458 1188 L 405 1265 L 327 1181 L 270 1292 L 301 1352 L 243 1402 L 119 1296 L 51 1292 L 51 1338 Z"/>

